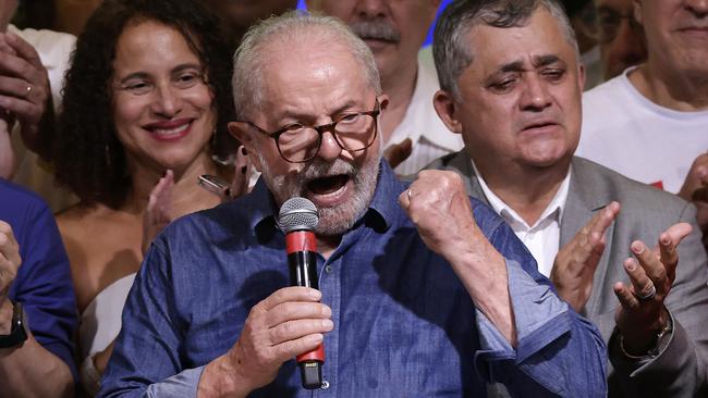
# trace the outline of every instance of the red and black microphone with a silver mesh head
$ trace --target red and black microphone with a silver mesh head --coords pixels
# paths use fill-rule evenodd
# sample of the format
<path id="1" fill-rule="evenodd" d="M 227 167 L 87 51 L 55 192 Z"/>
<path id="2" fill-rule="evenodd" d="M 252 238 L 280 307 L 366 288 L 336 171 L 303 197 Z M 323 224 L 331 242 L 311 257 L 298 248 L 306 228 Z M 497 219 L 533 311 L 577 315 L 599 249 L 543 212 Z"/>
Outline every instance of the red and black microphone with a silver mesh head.
<path id="1" fill-rule="evenodd" d="M 317 208 L 305 198 L 293 197 L 280 208 L 278 225 L 285 233 L 285 251 L 290 270 L 290 285 L 319 289 L 317 283 L 317 241 L 313 232 L 319 222 Z M 296 358 L 304 388 L 322 386 L 325 347 L 320 344 L 313 351 Z"/>

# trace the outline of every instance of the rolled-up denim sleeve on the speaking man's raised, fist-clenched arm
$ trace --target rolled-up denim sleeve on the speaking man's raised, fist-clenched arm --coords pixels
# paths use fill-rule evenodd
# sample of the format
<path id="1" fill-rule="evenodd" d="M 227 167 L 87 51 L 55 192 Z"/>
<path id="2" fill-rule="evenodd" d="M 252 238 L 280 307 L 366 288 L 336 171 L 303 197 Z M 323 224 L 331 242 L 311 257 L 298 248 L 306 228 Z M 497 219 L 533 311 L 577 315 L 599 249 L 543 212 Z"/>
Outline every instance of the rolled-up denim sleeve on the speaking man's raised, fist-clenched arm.
<path id="1" fill-rule="evenodd" d="M 475 210 L 478 221 L 496 219 Z M 558 298 L 506 224 L 499 221 L 487 235 L 506 259 L 517 345 L 511 347 L 477 310 L 480 350 L 475 363 L 480 375 L 504 384 L 514 396 L 605 397 L 607 349 L 597 328 Z"/>

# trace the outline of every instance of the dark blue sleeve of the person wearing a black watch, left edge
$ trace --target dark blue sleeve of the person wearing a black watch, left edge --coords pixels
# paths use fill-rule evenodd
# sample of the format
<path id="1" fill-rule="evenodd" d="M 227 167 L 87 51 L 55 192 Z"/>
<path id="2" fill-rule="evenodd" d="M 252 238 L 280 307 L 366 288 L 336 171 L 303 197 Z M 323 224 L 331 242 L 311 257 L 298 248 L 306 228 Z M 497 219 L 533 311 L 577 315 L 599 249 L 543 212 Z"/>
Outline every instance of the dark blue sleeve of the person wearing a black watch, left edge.
<path id="1" fill-rule="evenodd" d="M 66 363 L 75 381 L 72 336 L 78 315 L 69 259 L 47 206 L 33 198 L 27 201 L 27 211 L 12 225 L 22 265 L 9 297 L 23 303 L 35 339 Z"/>

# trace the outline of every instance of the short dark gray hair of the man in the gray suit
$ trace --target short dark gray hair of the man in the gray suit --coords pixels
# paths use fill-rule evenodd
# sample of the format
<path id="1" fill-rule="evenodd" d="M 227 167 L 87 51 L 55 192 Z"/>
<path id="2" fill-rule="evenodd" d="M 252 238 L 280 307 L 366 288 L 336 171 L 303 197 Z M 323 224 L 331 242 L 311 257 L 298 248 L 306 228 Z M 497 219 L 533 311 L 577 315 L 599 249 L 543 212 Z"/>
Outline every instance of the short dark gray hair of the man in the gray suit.
<path id="1" fill-rule="evenodd" d="M 524 26 L 539 7 L 558 21 L 579 61 L 575 32 L 563 7 L 556 0 L 455 0 L 445 8 L 435 29 L 432 55 L 440 88 L 460 100 L 457 78 L 474 59 L 474 49 L 465 38 L 469 29 L 481 24 L 499 28 Z"/>

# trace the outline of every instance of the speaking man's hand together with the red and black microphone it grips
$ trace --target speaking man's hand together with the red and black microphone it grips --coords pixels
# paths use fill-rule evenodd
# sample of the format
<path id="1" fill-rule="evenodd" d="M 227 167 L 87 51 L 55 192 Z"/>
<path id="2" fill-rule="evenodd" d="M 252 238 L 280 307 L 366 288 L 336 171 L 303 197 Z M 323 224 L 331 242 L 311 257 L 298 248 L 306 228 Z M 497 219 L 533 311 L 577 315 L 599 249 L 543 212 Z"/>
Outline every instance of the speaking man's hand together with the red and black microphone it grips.
<path id="1" fill-rule="evenodd" d="M 295 356 L 304 359 L 304 362 L 298 361 L 303 372 L 303 386 L 321 386 L 322 335 L 330 332 L 333 324 L 330 320 L 331 309 L 319 302 L 321 294 L 315 289 L 317 275 L 312 273 L 315 270 L 315 237 L 312 229 L 294 228 L 301 225 L 298 221 L 293 224 L 289 222 L 291 227 L 283 227 L 283 223 L 290 217 L 312 219 L 312 215 L 307 215 L 308 212 L 312 210 L 302 211 L 290 206 L 286 208 L 285 204 L 280 211 L 279 223 L 286 234 L 289 265 L 291 277 L 294 277 L 291 282 L 294 286 L 279 289 L 254 306 L 236 344 L 225 356 L 209 365 L 216 368 L 217 373 L 229 374 L 232 384 L 237 385 L 244 395 L 271 383 L 283 362 Z M 283 217 L 284 213 L 290 216 Z M 315 210 L 315 225 L 316 219 Z M 303 231 L 304 234 L 301 233 Z M 307 234 L 312 234 L 312 240 L 308 240 Z M 297 248 L 308 250 L 295 250 Z M 310 250 L 312 257 L 307 253 Z M 312 268 L 308 261 L 312 261 Z M 315 355 L 310 356 L 313 352 Z"/>

